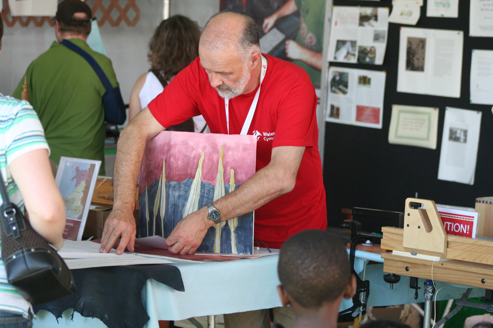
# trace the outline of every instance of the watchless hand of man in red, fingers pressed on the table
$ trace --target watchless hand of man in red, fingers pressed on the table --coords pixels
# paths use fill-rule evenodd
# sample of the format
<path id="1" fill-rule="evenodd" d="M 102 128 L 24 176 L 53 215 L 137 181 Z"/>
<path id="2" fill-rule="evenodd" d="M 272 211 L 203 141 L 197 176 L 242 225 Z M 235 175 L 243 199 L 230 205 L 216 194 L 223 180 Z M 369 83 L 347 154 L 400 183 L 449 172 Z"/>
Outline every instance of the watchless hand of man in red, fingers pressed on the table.
<path id="1" fill-rule="evenodd" d="M 106 219 L 103 237 L 101 238 L 101 249 L 99 251 L 101 253 L 109 253 L 111 248 L 115 245 L 116 240 L 121 236 L 120 244 L 116 249 L 116 254 L 122 254 L 125 247 L 133 252 L 135 233 L 134 213 L 113 209 Z"/>

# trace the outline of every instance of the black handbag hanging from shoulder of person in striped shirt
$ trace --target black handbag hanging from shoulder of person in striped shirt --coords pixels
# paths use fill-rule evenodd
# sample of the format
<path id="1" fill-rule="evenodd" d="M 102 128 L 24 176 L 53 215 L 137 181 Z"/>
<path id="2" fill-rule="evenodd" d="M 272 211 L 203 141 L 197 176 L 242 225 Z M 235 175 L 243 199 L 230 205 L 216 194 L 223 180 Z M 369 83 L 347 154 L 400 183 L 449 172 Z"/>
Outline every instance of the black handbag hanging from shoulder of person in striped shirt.
<path id="1" fill-rule="evenodd" d="M 55 248 L 48 244 L 10 202 L 0 173 L 1 258 L 8 282 L 33 304 L 46 303 L 75 293 L 72 272 Z"/>

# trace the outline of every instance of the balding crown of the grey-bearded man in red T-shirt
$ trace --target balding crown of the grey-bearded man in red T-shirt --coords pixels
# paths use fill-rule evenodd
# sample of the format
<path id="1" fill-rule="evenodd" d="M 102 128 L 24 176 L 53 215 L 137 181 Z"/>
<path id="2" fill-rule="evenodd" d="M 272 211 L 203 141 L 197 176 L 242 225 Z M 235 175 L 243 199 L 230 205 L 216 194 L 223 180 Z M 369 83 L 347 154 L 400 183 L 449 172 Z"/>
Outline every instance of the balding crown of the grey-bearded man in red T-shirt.
<path id="1" fill-rule="evenodd" d="M 253 19 L 242 14 L 215 14 L 202 32 L 199 47 L 224 51 L 236 48 L 246 59 L 254 52 L 260 52 L 258 27 Z"/>

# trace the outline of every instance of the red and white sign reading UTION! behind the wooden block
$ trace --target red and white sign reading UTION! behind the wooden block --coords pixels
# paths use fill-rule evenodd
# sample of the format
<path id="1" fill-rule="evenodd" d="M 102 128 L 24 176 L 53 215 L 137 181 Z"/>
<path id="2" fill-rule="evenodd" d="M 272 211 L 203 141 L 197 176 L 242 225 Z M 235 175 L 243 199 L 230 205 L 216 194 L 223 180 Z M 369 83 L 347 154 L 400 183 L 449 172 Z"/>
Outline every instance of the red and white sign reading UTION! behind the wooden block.
<path id="1" fill-rule="evenodd" d="M 478 212 L 437 207 L 448 235 L 476 238 Z"/>

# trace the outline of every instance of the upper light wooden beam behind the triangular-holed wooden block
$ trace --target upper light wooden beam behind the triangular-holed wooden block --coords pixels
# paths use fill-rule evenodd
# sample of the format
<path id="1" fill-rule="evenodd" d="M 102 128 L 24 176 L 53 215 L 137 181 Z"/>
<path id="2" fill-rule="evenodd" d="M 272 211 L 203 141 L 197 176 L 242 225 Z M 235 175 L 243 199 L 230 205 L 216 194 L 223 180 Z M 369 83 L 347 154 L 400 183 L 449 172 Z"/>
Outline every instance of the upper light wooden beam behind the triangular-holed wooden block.
<path id="1" fill-rule="evenodd" d="M 409 251 L 402 246 L 404 229 L 383 227 L 381 247 L 388 250 Z M 493 265 L 493 241 L 467 237 L 447 236 L 447 258 L 453 260 Z M 440 256 L 434 252 L 420 254 Z"/>

